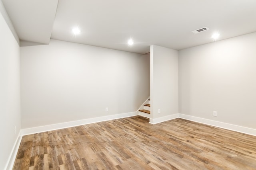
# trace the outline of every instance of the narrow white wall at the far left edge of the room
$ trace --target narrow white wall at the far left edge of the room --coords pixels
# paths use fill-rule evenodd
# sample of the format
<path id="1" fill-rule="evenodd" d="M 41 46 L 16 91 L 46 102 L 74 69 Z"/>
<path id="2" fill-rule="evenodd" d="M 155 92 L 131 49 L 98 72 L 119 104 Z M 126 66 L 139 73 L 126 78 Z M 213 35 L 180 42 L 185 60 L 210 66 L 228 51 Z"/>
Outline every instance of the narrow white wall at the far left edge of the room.
<path id="1" fill-rule="evenodd" d="M 2 2 L 0 1 L 0 6 Z M 2 7 L 1 7 L 2 8 Z M 0 169 L 8 166 L 20 132 L 20 47 L 0 12 Z M 15 133 L 16 127 L 16 133 Z"/>

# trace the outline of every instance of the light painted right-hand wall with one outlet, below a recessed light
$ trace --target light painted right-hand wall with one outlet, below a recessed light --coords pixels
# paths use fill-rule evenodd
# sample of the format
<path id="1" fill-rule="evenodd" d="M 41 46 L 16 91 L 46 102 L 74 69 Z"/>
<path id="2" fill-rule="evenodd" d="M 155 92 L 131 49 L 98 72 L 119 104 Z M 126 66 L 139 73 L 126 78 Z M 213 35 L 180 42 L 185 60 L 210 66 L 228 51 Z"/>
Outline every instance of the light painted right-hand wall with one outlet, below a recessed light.
<path id="1" fill-rule="evenodd" d="M 256 129 L 255 103 L 256 33 L 179 51 L 180 113 Z"/>

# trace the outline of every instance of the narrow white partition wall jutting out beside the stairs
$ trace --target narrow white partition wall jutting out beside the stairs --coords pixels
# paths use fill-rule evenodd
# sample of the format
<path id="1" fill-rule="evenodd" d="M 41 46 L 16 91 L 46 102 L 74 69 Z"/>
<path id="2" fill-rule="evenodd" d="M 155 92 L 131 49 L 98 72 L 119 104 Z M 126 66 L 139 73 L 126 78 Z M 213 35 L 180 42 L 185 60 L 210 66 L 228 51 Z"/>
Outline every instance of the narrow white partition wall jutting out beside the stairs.
<path id="1" fill-rule="evenodd" d="M 178 51 L 157 45 L 150 46 L 150 113 L 151 123 L 178 113 Z"/>

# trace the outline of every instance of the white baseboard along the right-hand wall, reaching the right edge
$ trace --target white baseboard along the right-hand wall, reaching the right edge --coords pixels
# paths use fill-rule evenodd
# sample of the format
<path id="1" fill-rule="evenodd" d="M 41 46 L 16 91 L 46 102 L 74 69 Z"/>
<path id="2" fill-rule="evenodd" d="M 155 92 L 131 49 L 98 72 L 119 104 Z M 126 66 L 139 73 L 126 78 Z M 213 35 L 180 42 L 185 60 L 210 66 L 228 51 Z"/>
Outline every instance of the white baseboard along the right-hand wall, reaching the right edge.
<path id="1" fill-rule="evenodd" d="M 248 128 L 248 127 L 242 127 L 242 126 L 238 126 L 238 125 L 233 125 L 233 124 L 224 123 L 224 122 L 220 122 L 220 121 L 214 121 L 214 120 L 210 120 L 210 119 L 204 119 L 201 117 L 184 115 L 184 114 L 180 114 L 180 113 L 178 114 L 178 117 L 182 118 L 182 119 L 190 120 L 190 121 L 195 121 L 198 123 L 203 123 L 206 125 L 211 125 L 211 126 L 220 127 L 223 129 L 228 129 L 231 131 L 236 131 L 236 132 L 256 136 L 256 129 L 252 129 L 252 128 Z"/>

